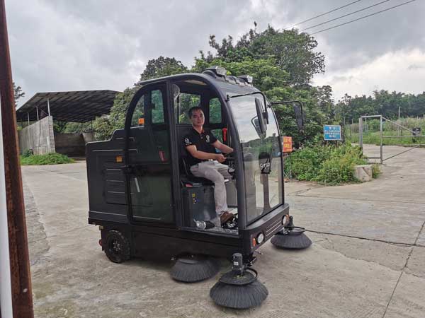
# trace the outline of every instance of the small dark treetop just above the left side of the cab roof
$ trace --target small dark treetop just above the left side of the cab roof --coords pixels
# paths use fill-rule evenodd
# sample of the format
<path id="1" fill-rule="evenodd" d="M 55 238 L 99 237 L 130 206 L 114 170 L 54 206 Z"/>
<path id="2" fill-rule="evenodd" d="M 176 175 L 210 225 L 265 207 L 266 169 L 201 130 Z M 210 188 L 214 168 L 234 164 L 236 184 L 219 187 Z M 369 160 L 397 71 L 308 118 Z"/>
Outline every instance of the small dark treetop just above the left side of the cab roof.
<path id="1" fill-rule="evenodd" d="M 145 71 L 140 74 L 140 82 L 151 78 L 185 73 L 186 71 L 186 66 L 184 66 L 181 61 L 174 59 L 174 57 L 158 57 L 157 59 L 149 59 Z"/>

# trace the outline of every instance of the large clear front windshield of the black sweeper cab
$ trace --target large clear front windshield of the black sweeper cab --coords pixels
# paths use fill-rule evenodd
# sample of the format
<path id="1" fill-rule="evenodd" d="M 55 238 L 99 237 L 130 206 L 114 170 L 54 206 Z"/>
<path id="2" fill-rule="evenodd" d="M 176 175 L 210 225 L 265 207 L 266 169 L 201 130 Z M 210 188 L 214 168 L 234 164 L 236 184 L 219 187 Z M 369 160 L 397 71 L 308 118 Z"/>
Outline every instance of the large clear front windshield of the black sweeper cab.
<path id="1" fill-rule="evenodd" d="M 268 124 L 266 131 L 261 131 L 256 98 L 263 104 L 261 95 L 247 95 L 229 100 L 243 151 L 247 223 L 283 204 L 278 125 L 273 110 L 267 107 Z"/>

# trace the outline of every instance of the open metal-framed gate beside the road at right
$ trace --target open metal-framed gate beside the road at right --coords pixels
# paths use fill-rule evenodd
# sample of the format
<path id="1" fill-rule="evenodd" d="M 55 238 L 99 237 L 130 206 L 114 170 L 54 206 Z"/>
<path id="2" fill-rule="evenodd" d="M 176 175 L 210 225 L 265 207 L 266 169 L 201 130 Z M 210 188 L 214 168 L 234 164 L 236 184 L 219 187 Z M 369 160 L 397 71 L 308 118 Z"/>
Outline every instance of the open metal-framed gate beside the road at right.
<path id="1" fill-rule="evenodd" d="M 368 129 L 368 125 L 365 124 L 365 122 L 367 122 L 368 119 L 379 119 L 379 126 L 380 126 L 380 130 L 379 130 L 379 136 L 380 136 L 380 156 L 379 157 L 368 157 L 368 159 L 379 159 L 380 163 L 383 163 L 385 160 L 388 160 L 390 158 L 394 158 L 397 155 L 401 155 L 402 153 L 407 153 L 407 151 L 412 151 L 415 148 L 418 148 L 420 146 L 425 146 L 425 143 L 416 143 L 416 141 L 424 141 L 425 139 L 421 139 L 423 137 L 425 137 L 425 135 L 421 135 L 421 129 L 418 127 L 417 129 L 409 129 L 405 126 L 402 126 L 400 124 L 398 124 L 397 122 L 393 122 L 390 119 L 387 119 L 385 117 L 383 117 L 382 115 L 368 115 L 368 116 L 362 116 L 358 119 L 358 143 L 362 149 L 363 152 L 363 134 L 365 133 L 365 131 L 367 131 Z M 389 135 L 389 136 L 385 136 L 383 134 L 383 127 L 385 122 L 390 122 L 392 124 L 394 124 L 395 126 L 397 126 L 398 130 L 397 130 L 397 135 Z M 404 131 L 404 133 L 403 133 Z M 409 133 L 407 132 L 409 131 Z M 408 134 L 408 135 L 407 135 Z M 385 139 L 402 139 L 402 138 L 411 138 L 412 139 L 412 143 L 404 143 L 404 144 L 396 144 L 396 145 L 385 145 L 384 144 L 384 140 Z M 409 149 L 402 151 L 400 153 L 397 153 L 395 155 L 391 155 L 390 157 L 384 158 L 384 154 L 383 154 L 383 147 L 384 146 L 404 146 L 404 147 L 409 147 Z"/>

